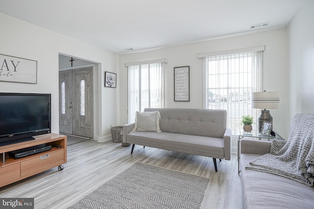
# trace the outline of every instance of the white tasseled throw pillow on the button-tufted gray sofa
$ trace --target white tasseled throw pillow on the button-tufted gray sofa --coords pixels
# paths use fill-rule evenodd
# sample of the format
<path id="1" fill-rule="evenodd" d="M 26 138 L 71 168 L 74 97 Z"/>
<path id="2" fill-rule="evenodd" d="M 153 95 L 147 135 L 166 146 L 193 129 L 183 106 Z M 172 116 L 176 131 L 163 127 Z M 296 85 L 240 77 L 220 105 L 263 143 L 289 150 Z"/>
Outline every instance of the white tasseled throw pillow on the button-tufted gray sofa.
<path id="1" fill-rule="evenodd" d="M 159 111 L 153 112 L 136 112 L 135 115 L 135 126 L 132 132 L 136 131 L 156 131 L 161 132 L 159 127 L 160 120 Z"/>

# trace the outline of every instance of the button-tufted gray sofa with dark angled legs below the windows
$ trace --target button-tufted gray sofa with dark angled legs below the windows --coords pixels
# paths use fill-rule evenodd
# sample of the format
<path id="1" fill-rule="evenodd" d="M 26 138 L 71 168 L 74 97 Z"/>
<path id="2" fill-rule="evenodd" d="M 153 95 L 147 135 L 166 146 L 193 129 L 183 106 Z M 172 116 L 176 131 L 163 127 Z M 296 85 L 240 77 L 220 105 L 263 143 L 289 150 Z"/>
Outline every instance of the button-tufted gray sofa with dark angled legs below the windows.
<path id="1" fill-rule="evenodd" d="M 225 110 L 145 108 L 144 112 L 159 111 L 162 132 L 131 132 L 134 123 L 123 126 L 123 142 L 160 149 L 202 155 L 216 159 L 231 158 L 231 129 L 226 128 Z"/>

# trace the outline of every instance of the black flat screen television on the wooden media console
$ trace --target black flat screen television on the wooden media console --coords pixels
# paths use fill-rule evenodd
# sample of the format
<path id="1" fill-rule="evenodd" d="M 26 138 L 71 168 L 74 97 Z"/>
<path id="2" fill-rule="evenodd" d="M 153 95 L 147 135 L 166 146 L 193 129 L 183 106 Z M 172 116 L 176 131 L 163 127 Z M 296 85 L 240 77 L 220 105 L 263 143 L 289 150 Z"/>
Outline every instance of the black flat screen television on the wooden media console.
<path id="1" fill-rule="evenodd" d="M 51 133 L 51 94 L 0 93 L 0 146 Z"/>

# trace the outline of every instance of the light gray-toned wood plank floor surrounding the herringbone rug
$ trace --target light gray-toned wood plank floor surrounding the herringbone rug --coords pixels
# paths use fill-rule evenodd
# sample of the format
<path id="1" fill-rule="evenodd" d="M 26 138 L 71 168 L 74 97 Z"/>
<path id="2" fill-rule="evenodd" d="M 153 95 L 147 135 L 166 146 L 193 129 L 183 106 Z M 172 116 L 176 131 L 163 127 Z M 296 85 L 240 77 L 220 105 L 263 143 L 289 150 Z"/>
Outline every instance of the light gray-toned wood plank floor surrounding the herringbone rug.
<path id="1" fill-rule="evenodd" d="M 0 197 L 35 198 L 35 209 L 65 209 L 80 198 L 105 184 L 136 162 L 148 163 L 210 179 L 203 209 L 241 209 L 242 193 L 237 174 L 237 157 L 217 161 L 212 158 L 135 145 L 94 140 L 68 146 L 68 163 L 0 188 Z"/>

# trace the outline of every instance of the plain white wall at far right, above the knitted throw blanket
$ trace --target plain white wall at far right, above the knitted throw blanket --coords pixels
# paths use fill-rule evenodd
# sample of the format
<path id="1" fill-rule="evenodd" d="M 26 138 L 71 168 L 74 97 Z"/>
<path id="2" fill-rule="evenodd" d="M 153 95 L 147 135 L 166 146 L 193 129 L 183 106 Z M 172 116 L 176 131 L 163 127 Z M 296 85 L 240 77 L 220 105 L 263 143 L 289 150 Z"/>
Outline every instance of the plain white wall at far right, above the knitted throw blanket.
<path id="1" fill-rule="evenodd" d="M 307 0 L 288 26 L 289 121 L 314 114 L 314 0 Z"/>

